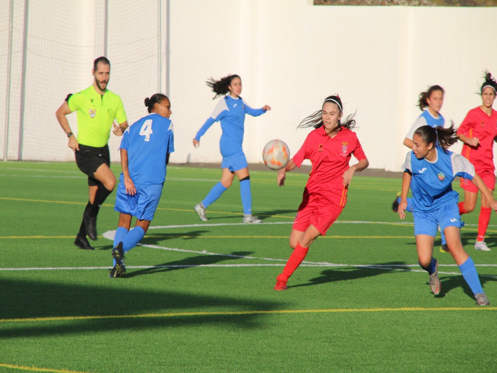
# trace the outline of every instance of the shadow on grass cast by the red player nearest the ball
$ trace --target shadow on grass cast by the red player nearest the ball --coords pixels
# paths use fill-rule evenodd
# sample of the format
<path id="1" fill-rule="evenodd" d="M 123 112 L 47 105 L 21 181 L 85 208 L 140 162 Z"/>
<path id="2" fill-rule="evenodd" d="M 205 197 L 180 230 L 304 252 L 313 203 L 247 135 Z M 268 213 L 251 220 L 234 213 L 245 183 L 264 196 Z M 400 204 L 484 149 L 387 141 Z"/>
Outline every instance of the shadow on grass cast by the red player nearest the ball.
<path id="1" fill-rule="evenodd" d="M 398 269 L 397 267 L 392 268 L 390 266 L 402 266 L 406 265 L 406 262 L 389 262 L 389 263 L 379 263 L 374 267 L 336 267 L 330 270 L 324 270 L 321 272 L 320 277 L 310 279 L 308 283 L 301 283 L 298 285 L 292 285 L 288 287 L 299 287 L 299 286 L 310 286 L 319 285 L 322 283 L 333 282 L 333 281 L 347 281 L 347 280 L 358 280 L 364 279 L 366 277 L 373 277 L 378 275 L 387 274 Z M 402 268 L 402 267 L 401 267 Z"/>

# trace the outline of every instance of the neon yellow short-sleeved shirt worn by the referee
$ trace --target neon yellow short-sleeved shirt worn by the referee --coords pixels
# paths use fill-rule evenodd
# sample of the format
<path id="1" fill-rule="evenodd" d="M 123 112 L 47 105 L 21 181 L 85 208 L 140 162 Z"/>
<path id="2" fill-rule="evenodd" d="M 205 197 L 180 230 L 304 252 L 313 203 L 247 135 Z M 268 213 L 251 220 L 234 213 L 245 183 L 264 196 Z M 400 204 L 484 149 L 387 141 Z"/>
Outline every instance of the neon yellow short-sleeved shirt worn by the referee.
<path id="1" fill-rule="evenodd" d="M 114 119 L 126 121 L 121 97 L 105 90 L 100 95 L 93 86 L 75 93 L 67 102 L 71 111 L 78 110 L 78 142 L 101 148 L 107 144 Z"/>

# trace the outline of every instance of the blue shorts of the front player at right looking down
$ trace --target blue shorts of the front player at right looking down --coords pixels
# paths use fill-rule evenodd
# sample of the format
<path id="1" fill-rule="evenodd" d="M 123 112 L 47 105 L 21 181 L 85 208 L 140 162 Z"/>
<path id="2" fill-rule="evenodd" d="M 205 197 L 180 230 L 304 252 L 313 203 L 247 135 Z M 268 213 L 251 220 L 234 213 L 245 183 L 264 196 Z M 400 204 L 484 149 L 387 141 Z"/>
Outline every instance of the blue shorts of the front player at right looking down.
<path id="1" fill-rule="evenodd" d="M 414 236 L 426 234 L 435 237 L 439 226 L 442 232 L 446 227 L 463 226 L 457 203 L 449 203 L 429 212 L 413 211 L 413 217 Z"/>

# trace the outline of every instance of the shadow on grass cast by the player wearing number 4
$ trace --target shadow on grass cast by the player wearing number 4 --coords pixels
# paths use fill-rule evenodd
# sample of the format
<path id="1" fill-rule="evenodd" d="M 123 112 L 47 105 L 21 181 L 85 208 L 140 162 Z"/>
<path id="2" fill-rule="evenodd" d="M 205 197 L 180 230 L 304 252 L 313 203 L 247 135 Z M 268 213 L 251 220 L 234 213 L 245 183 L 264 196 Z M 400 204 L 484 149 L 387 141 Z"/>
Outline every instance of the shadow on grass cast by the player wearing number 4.
<path id="1" fill-rule="evenodd" d="M 124 277 L 130 278 L 130 277 L 135 277 L 135 276 L 141 276 L 141 275 L 151 275 L 155 273 L 161 273 L 161 272 L 169 272 L 169 271 L 175 271 L 175 270 L 183 270 L 186 268 L 191 268 L 191 267 L 198 267 L 202 265 L 210 265 L 210 264 L 216 264 L 220 263 L 226 260 L 233 260 L 233 259 L 240 259 L 240 257 L 245 257 L 252 254 L 250 251 L 234 251 L 231 254 L 228 255 L 209 255 L 209 254 L 204 254 L 204 255 L 198 255 L 194 257 L 189 257 L 186 259 L 174 261 L 174 262 L 166 262 L 163 264 L 159 264 L 155 267 L 152 268 L 144 268 L 142 270 L 138 271 L 133 271 L 132 269 L 129 270 L 129 272 L 126 272 L 126 275 Z M 132 271 L 132 272 L 131 272 Z"/>

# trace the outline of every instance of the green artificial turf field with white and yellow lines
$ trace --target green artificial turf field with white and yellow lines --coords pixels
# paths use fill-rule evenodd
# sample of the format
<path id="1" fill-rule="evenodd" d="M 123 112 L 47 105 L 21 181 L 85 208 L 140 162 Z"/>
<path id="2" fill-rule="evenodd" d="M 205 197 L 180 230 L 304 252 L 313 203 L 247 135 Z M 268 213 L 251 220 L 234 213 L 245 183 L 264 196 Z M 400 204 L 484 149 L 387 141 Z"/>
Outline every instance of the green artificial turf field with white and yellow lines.
<path id="1" fill-rule="evenodd" d="M 102 236 L 117 226 L 115 193 L 86 251 L 73 245 L 87 202 L 74 163 L 2 162 L 0 174 L 0 372 L 497 371 L 497 308 L 477 306 L 439 238 L 442 290 L 430 292 L 412 216 L 400 224 L 391 210 L 400 179 L 356 174 L 338 221 L 274 291 L 305 174 L 278 187 L 275 172 L 251 172 L 254 215 L 282 224 L 227 225 L 242 222 L 238 183 L 201 222 L 193 206 L 220 170 L 168 167 L 119 279 Z M 462 242 L 497 304 L 496 218 L 492 251 L 475 251 L 478 210 L 463 216 Z"/>

